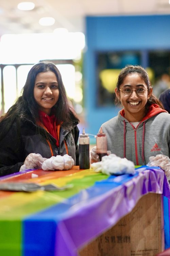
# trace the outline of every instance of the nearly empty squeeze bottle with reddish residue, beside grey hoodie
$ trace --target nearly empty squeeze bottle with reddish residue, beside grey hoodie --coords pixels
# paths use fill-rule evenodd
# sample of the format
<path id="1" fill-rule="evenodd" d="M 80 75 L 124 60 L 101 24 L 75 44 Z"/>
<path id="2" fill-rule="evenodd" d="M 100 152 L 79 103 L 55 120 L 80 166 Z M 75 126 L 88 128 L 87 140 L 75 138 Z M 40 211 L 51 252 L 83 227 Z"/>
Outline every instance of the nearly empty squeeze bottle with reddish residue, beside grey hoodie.
<path id="1" fill-rule="evenodd" d="M 102 127 L 100 127 L 100 131 L 96 137 L 96 153 L 99 155 L 100 161 L 103 156 L 107 156 L 107 137 L 106 134 L 103 133 Z"/>

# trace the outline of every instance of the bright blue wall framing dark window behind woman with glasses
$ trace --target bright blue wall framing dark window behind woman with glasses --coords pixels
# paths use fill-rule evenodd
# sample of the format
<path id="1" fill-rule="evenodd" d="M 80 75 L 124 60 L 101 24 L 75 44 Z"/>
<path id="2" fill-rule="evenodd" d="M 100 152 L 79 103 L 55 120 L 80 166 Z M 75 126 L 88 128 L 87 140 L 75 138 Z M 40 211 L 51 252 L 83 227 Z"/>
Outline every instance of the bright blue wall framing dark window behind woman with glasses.
<path id="1" fill-rule="evenodd" d="M 117 107 L 96 106 L 96 52 L 170 49 L 170 15 L 86 17 L 84 99 L 86 132 L 96 134 L 101 124 L 118 113 Z M 81 131 L 80 131 L 81 132 Z"/>

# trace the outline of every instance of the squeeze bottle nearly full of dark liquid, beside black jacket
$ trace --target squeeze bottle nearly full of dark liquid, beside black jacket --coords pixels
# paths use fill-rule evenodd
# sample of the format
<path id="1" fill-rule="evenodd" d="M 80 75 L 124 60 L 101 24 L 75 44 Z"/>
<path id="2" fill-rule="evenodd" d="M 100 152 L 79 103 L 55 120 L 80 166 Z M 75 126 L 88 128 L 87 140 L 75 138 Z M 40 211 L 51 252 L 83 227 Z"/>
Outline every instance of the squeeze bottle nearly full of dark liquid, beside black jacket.
<path id="1" fill-rule="evenodd" d="M 90 168 L 89 137 L 88 134 L 85 134 L 84 128 L 79 137 L 79 167 L 80 169 Z"/>

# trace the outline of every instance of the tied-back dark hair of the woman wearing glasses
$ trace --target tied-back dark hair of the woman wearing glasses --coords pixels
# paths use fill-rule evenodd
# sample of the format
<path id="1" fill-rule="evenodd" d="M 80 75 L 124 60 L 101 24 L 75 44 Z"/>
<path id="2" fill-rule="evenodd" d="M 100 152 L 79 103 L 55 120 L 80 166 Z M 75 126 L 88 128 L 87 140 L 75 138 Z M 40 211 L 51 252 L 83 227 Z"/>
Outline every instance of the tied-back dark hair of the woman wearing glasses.
<path id="1" fill-rule="evenodd" d="M 119 90 L 120 85 L 123 83 L 125 77 L 130 74 L 133 74 L 133 73 L 138 73 L 138 75 L 141 77 L 141 79 L 146 83 L 148 92 L 149 92 L 151 90 L 152 86 L 151 86 L 151 83 L 150 83 L 150 80 L 148 77 L 148 73 L 143 67 L 137 66 L 137 65 L 135 65 L 135 66 L 128 65 L 121 70 L 121 72 L 118 76 L 118 79 L 117 79 L 117 84 L 116 84 L 117 89 Z M 120 103 L 120 100 L 117 97 L 115 99 L 115 103 L 116 104 Z M 153 94 L 151 94 L 151 97 L 147 101 L 146 109 L 148 110 L 152 104 L 157 104 L 157 105 L 159 105 L 160 108 L 164 109 L 160 100 L 158 98 L 156 98 Z"/>

